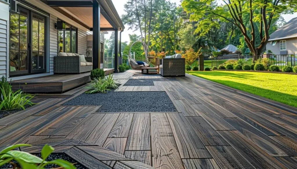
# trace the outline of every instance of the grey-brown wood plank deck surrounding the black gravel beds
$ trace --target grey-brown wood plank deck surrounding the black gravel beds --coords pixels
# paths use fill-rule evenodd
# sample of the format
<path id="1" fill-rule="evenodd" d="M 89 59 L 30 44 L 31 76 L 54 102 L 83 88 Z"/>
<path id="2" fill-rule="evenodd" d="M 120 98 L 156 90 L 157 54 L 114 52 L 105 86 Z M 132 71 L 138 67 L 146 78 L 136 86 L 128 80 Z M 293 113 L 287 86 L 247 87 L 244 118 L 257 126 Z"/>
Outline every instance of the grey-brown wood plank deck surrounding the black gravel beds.
<path id="1" fill-rule="evenodd" d="M 114 78 L 163 77 L 129 70 Z M 178 112 L 61 105 L 83 87 L 39 95 L 39 104 L 0 119 L 0 149 L 27 143 L 34 146 L 23 150 L 38 152 L 48 143 L 88 168 L 296 169 L 296 108 L 192 75 L 177 79 L 117 91 L 165 91 Z"/>

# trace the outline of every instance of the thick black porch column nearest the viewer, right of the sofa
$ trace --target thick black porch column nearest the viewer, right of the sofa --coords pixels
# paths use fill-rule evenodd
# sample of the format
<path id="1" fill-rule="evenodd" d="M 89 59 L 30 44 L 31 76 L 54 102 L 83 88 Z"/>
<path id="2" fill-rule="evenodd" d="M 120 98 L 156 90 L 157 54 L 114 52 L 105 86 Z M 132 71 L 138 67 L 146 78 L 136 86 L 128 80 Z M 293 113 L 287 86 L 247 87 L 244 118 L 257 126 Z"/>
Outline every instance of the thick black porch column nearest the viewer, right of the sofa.
<path id="1" fill-rule="evenodd" d="M 100 6 L 93 0 L 93 69 L 100 68 Z"/>

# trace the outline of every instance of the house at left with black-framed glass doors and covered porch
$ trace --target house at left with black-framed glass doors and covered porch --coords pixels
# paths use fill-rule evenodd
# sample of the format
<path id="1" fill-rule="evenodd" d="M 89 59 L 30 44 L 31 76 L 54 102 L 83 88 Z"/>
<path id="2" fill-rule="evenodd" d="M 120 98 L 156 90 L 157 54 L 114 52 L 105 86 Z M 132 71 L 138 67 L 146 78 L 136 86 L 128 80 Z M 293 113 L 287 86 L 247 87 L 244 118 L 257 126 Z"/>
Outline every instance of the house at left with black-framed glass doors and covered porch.
<path id="1" fill-rule="evenodd" d="M 65 24 L 63 30 L 57 29 L 58 21 Z M 93 68 L 100 67 L 104 33 L 99 31 L 118 35 L 122 30 L 124 24 L 111 0 L 0 0 L 0 77 L 10 81 L 53 75 L 59 52 L 90 50 Z"/>

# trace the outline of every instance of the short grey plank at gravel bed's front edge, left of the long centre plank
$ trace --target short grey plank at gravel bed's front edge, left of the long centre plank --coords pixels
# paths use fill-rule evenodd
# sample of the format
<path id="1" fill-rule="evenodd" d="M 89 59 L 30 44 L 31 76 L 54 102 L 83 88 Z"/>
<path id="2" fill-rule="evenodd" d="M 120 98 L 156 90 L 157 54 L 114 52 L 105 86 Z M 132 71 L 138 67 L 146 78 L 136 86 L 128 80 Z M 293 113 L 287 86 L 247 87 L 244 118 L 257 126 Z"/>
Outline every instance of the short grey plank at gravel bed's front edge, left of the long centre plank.
<path id="1" fill-rule="evenodd" d="M 151 150 L 151 129 L 148 113 L 134 114 L 126 150 Z"/>

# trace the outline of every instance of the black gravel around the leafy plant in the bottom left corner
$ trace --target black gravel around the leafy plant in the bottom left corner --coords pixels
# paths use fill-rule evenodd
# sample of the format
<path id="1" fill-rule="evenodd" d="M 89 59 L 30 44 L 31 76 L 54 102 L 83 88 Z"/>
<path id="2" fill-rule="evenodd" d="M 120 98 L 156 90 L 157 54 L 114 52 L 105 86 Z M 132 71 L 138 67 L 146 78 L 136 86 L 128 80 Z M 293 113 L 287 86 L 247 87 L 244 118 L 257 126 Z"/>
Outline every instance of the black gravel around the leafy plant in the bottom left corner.
<path id="1" fill-rule="evenodd" d="M 38 154 L 34 154 L 38 157 L 41 157 L 41 154 L 38 153 Z M 48 158 L 46 159 L 46 161 L 52 161 L 52 160 L 56 160 L 56 159 L 62 159 L 62 160 L 66 160 L 70 163 L 76 163 L 75 164 L 75 167 L 77 169 L 88 169 L 86 168 L 85 166 L 83 166 L 82 164 L 80 164 L 79 162 L 77 162 L 76 160 L 74 160 L 73 158 L 69 157 L 67 154 L 65 153 L 52 153 L 48 156 Z M 15 164 L 16 161 L 13 161 Z M 17 164 L 18 165 L 18 164 Z M 46 165 L 45 168 L 57 168 L 59 167 L 58 165 L 54 165 L 54 164 L 50 164 L 50 165 Z M 12 165 L 11 164 L 4 164 L 0 167 L 0 169 L 4 169 L 4 168 L 12 168 Z"/>

